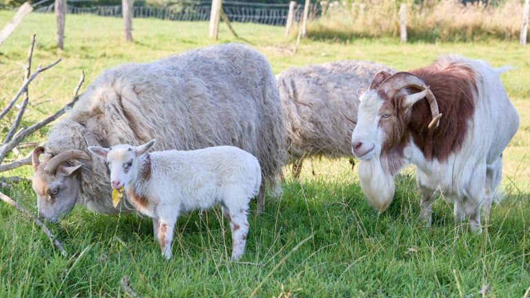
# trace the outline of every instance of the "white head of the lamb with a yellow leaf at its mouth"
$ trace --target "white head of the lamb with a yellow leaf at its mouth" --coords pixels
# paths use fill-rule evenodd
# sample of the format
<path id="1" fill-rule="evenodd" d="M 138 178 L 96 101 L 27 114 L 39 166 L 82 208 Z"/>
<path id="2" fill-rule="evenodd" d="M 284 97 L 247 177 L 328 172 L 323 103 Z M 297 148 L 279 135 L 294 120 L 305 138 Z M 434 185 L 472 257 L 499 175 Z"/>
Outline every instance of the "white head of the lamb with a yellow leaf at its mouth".
<path id="1" fill-rule="evenodd" d="M 110 185 L 118 189 L 130 183 L 138 169 L 138 157 L 148 152 L 156 141 L 153 139 L 140 146 L 120 144 L 112 148 L 88 147 L 95 155 L 104 157 L 110 168 Z"/>

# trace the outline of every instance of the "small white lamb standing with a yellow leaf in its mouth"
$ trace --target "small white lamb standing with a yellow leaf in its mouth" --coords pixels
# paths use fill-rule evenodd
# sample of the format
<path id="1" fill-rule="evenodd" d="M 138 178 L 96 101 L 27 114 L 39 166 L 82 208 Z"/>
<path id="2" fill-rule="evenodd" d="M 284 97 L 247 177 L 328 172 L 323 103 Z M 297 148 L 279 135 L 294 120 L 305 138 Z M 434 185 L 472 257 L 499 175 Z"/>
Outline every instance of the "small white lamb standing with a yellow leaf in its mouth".
<path id="1" fill-rule="evenodd" d="M 233 146 L 147 153 L 154 145 L 152 140 L 138 147 L 121 144 L 88 150 L 106 158 L 112 188 L 124 187 L 137 210 L 153 219 L 155 239 L 166 259 L 171 257 L 177 217 L 215 203 L 230 221 L 232 259 L 238 259 L 248 233 L 248 202 L 262 181 L 257 159 Z"/>

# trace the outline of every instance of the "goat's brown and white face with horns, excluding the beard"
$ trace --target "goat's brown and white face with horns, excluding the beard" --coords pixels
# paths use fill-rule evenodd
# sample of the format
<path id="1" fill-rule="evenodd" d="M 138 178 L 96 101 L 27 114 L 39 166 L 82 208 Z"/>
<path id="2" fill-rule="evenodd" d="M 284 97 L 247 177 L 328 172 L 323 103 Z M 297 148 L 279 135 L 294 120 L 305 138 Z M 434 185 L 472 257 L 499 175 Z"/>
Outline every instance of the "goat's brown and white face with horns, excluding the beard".
<path id="1" fill-rule="evenodd" d="M 420 92 L 411 94 L 410 90 Z M 361 160 L 369 160 L 397 146 L 407 133 L 411 107 L 423 98 L 429 102 L 433 117 L 425 125 L 434 129 L 442 115 L 433 93 L 422 79 L 409 72 L 377 73 L 369 90 L 360 96 L 357 126 L 351 137 L 353 154 Z"/>

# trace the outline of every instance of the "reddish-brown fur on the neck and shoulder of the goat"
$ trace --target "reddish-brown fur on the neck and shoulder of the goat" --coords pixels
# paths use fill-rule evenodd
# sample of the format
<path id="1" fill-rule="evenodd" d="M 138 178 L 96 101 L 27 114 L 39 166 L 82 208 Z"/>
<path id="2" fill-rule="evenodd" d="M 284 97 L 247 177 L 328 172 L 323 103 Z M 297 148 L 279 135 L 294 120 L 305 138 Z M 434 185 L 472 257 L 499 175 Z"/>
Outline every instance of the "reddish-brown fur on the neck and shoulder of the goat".
<path id="1" fill-rule="evenodd" d="M 415 103 L 409 112 L 400 111 L 404 95 L 397 95 L 385 103 L 392 106 L 397 115 L 397 122 L 391 130 L 389 139 L 385 141 L 382 155 L 389 158 L 389 168 L 399 165 L 396 160 L 402 157 L 403 149 L 410 141 L 410 137 L 428 160 L 438 159 L 446 161 L 451 153 L 460 150 L 467 135 L 468 123 L 475 112 L 475 94 L 478 93 L 475 72 L 469 66 L 449 63 L 412 70 L 412 74 L 420 77 L 427 86 L 431 86 L 433 95 L 438 102 L 440 126 L 429 130 L 427 125 L 432 119 L 429 103 L 421 99 Z M 421 90 L 408 90 L 409 94 Z M 402 131 L 407 128 L 408 133 Z"/>

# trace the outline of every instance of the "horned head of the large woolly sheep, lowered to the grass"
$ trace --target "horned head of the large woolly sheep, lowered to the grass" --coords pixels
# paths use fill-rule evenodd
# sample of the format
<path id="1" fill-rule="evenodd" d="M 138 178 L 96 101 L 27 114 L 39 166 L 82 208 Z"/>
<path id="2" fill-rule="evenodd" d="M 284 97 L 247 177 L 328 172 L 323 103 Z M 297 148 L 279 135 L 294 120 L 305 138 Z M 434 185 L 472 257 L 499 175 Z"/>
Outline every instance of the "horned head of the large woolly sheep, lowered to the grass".
<path id="1" fill-rule="evenodd" d="M 90 157 L 81 150 L 67 150 L 55 157 L 47 155 L 40 161 L 43 153 L 42 146 L 32 153 L 33 190 L 37 194 L 39 215 L 48 221 L 57 221 L 74 208 L 80 196 L 80 179 L 76 174 L 81 164 L 67 166 L 66 163 Z"/>

